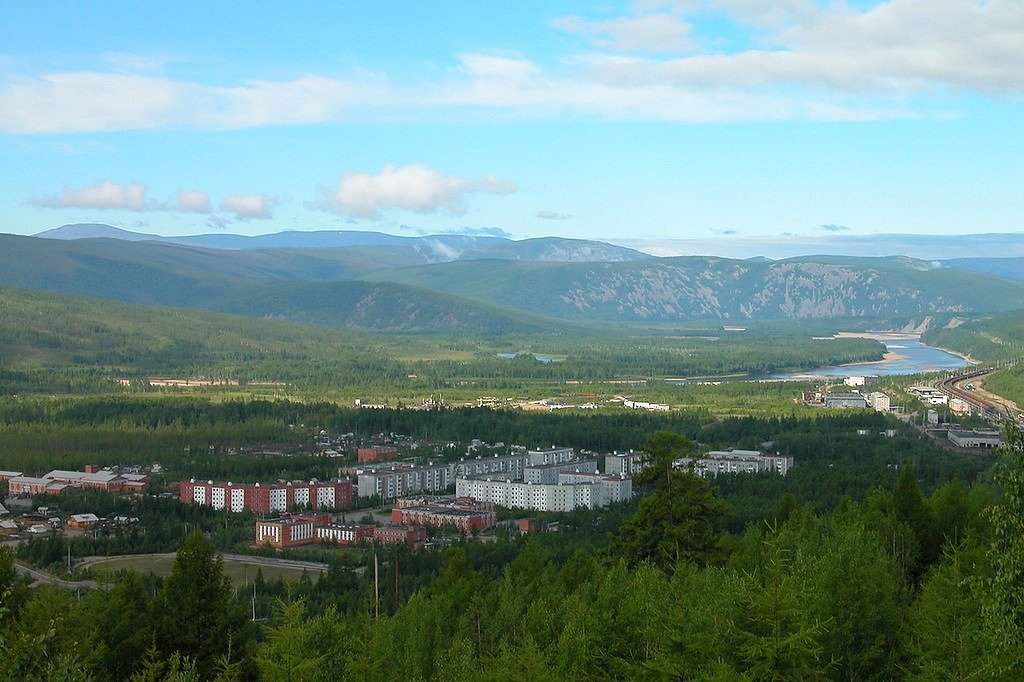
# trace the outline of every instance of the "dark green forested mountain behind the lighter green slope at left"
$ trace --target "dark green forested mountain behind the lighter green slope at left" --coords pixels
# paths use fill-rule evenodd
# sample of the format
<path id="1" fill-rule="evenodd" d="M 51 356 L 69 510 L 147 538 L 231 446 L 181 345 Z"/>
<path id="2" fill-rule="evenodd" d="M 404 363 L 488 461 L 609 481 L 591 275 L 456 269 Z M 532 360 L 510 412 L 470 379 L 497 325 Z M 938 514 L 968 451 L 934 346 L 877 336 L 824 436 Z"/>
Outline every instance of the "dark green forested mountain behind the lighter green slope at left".
<path id="1" fill-rule="evenodd" d="M 0 285 L 388 332 L 504 334 L 558 323 L 451 295 L 337 276 L 301 252 L 0 235 Z M 333 274 L 335 281 L 324 281 Z M 343 281 L 338 281 L 343 280 Z"/>

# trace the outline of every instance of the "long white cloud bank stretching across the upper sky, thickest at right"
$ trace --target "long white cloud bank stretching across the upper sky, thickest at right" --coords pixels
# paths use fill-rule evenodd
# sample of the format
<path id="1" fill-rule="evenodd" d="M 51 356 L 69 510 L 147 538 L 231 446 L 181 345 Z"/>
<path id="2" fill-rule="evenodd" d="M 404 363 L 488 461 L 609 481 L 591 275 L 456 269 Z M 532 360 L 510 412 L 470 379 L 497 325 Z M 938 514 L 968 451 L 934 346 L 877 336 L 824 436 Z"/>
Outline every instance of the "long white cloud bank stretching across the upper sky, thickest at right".
<path id="1" fill-rule="evenodd" d="M 552 23 L 589 40 L 594 53 L 547 63 L 462 54 L 456 69 L 398 84 L 356 73 L 214 85 L 154 75 L 146 59 L 115 55 L 111 72 L 0 81 L 0 131 L 217 130 L 481 114 L 864 120 L 940 109 L 944 116 L 956 104 L 943 98 L 948 93 L 1024 97 L 1021 0 L 890 0 L 866 8 L 844 0 L 640 0 L 635 7 L 639 13 L 621 17 Z M 749 45 L 690 30 L 730 23 Z M 5 73 L 17 70 L 24 66 Z"/>

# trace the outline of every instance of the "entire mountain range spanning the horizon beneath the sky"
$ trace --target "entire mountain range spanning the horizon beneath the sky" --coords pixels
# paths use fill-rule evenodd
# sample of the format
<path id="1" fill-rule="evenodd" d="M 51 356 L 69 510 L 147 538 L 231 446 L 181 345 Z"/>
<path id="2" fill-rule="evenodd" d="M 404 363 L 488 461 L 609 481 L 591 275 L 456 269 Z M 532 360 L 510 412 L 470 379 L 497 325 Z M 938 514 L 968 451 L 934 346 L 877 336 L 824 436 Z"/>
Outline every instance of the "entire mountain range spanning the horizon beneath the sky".
<path id="1" fill-rule="evenodd" d="M 161 238 L 95 224 L 0 236 L 0 285 L 408 333 L 994 312 L 1024 307 L 1016 260 L 657 258 L 556 238 Z"/>

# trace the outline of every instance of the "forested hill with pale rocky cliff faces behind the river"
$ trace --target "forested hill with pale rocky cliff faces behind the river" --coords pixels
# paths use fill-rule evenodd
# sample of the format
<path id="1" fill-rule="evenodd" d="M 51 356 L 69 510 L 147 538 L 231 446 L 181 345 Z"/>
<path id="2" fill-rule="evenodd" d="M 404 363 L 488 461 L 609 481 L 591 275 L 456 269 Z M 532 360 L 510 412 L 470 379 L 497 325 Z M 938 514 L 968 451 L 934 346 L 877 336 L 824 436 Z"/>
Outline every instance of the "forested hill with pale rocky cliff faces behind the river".
<path id="1" fill-rule="evenodd" d="M 870 317 L 1009 310 L 1024 302 L 1022 282 L 908 258 L 458 262 L 368 278 L 564 319 L 615 322 Z"/>

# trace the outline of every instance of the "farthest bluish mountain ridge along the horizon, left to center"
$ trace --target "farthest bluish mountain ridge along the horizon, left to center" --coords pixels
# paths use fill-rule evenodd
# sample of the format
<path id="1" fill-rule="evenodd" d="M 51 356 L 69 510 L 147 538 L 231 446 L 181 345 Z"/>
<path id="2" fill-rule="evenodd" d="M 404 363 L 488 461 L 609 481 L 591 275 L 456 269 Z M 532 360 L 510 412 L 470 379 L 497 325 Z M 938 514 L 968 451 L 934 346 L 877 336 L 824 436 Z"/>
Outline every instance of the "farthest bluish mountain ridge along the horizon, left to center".
<path id="1" fill-rule="evenodd" d="M 355 230 L 289 230 L 273 235 L 246 237 L 243 235 L 196 235 L 191 237 L 159 237 L 131 232 L 111 225 L 78 223 L 62 225 L 36 235 L 51 240 L 116 239 L 127 242 L 163 242 L 185 246 L 225 250 L 269 249 L 360 249 L 376 253 L 378 260 L 396 250 L 415 254 L 418 262 L 437 263 L 451 260 L 499 258 L 505 260 L 540 261 L 621 261 L 647 258 L 646 254 L 612 246 L 603 242 L 544 237 L 531 240 L 510 240 L 502 237 L 471 235 L 433 235 L 429 237 L 396 237 L 383 232 Z"/>

